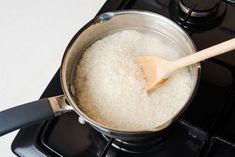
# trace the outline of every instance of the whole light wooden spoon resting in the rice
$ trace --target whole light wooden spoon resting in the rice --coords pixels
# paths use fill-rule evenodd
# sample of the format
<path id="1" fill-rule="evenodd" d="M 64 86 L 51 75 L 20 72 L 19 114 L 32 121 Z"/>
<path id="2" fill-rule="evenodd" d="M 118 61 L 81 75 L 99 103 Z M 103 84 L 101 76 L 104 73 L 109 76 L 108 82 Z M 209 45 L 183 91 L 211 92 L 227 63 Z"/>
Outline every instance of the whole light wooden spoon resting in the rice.
<path id="1" fill-rule="evenodd" d="M 148 92 L 155 87 L 161 86 L 176 70 L 233 49 L 235 49 L 235 38 L 175 61 L 169 61 L 156 56 L 139 56 L 136 58 L 136 63 L 142 70 L 147 82 L 145 90 Z"/>

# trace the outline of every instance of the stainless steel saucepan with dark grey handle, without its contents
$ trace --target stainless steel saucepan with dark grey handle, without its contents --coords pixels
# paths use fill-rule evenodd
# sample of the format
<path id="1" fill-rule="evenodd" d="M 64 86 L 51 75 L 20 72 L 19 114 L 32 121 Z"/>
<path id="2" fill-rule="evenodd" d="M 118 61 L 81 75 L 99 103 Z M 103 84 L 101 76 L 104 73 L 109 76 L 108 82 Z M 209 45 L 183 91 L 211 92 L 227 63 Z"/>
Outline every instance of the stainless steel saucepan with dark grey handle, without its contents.
<path id="1" fill-rule="evenodd" d="M 73 80 L 75 77 L 76 65 L 79 62 L 82 52 L 96 40 L 121 29 L 144 28 L 150 31 L 161 32 L 168 38 L 180 45 L 185 55 L 195 53 L 196 48 L 192 40 L 177 24 L 171 20 L 147 11 L 118 11 L 103 13 L 88 24 L 86 24 L 71 40 L 65 50 L 61 64 L 61 86 L 64 95 L 41 99 L 35 102 L 17 106 L 0 112 L 0 135 L 22 128 L 42 120 L 53 118 L 64 112 L 74 110 L 79 115 L 81 123 L 87 122 L 102 134 L 118 138 L 124 141 L 146 139 L 152 136 L 160 136 L 165 129 L 183 112 L 192 99 L 200 76 L 199 64 L 189 67 L 192 76 L 193 90 L 190 93 L 188 102 L 169 121 L 152 130 L 143 131 L 122 131 L 104 126 L 83 113 L 75 101 Z"/>

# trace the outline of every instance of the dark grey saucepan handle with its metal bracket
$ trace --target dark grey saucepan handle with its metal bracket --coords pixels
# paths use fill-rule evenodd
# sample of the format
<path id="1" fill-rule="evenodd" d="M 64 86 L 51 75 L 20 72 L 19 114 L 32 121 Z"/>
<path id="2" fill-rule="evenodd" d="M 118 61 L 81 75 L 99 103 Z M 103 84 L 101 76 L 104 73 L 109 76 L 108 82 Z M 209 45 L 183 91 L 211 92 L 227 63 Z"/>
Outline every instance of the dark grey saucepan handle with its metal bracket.
<path id="1" fill-rule="evenodd" d="M 64 100 L 64 96 L 40 99 L 0 112 L 0 136 L 71 111 Z"/>

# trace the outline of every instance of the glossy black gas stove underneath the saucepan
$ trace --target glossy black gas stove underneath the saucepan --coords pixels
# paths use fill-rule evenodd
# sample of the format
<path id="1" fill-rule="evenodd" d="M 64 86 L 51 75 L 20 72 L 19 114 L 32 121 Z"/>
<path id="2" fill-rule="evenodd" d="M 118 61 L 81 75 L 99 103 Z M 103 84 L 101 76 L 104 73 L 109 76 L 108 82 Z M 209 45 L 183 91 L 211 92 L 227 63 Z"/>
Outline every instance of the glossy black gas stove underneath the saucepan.
<path id="1" fill-rule="evenodd" d="M 234 0 L 108 0 L 98 14 L 138 9 L 166 16 L 186 30 L 198 50 L 235 37 Z M 202 62 L 194 99 L 166 136 L 129 143 L 78 122 L 76 113 L 23 128 L 12 143 L 20 157 L 235 156 L 235 51 Z M 63 94 L 59 70 L 42 94 Z"/>

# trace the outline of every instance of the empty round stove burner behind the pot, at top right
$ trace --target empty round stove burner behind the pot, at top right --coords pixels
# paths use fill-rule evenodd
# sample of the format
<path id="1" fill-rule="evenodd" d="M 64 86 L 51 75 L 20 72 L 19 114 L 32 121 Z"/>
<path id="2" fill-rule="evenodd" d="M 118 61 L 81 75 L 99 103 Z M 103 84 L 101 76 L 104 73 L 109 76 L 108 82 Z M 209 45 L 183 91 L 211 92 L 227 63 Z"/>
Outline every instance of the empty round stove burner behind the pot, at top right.
<path id="1" fill-rule="evenodd" d="M 209 3 L 210 2 L 210 3 Z M 170 15 L 190 31 L 204 31 L 217 26 L 226 12 L 226 3 L 220 0 L 172 0 Z"/>

